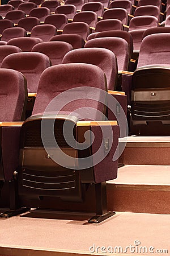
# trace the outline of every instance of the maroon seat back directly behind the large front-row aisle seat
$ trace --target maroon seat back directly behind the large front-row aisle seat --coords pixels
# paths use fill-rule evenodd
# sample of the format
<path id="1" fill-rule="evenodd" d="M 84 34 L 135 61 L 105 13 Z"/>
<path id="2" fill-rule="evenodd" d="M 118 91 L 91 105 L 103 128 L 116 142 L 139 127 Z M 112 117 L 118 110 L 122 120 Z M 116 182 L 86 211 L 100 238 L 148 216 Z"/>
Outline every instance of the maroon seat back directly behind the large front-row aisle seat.
<path id="1" fill-rule="evenodd" d="M 66 53 L 63 63 L 88 63 L 101 68 L 107 77 L 108 90 L 114 90 L 117 81 L 117 60 L 114 53 L 104 48 L 74 49 Z"/>

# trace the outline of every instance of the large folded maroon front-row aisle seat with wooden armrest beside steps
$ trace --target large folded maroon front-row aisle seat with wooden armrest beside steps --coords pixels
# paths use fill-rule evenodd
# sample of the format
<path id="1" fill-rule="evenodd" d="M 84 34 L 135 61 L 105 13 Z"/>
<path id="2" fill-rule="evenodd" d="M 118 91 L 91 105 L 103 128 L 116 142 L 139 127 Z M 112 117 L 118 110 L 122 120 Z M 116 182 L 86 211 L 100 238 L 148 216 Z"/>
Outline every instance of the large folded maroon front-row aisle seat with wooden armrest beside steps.
<path id="1" fill-rule="evenodd" d="M 89 222 L 99 223 L 114 214 L 107 212 L 105 181 L 117 177 L 117 160 L 112 159 L 118 144 L 118 126 L 116 121 L 104 121 L 103 102 L 108 95 L 105 88 L 104 73 L 95 65 L 61 64 L 43 72 L 33 115 L 22 126 L 18 168 L 20 198 L 37 200 L 37 204 L 46 197 L 82 202 L 86 189 L 94 184 L 96 216 Z M 50 102 L 52 105 L 46 109 Z M 101 122 L 97 123 L 98 120 Z M 50 141 L 52 123 L 57 147 L 56 142 Z M 79 142 L 78 147 L 75 140 Z M 44 146 L 46 150 L 49 148 L 48 152 Z"/>

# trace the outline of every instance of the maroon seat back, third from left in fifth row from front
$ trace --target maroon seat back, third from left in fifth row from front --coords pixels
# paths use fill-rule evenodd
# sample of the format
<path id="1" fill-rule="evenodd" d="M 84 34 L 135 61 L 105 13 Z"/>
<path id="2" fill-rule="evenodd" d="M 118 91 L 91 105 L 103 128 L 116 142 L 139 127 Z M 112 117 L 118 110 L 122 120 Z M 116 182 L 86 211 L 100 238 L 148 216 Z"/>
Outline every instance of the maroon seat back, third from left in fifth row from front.
<path id="1" fill-rule="evenodd" d="M 68 23 L 63 27 L 62 34 L 77 34 L 82 36 L 84 40 L 86 40 L 87 36 L 90 33 L 90 29 L 88 24 L 85 22 L 72 22 Z"/>

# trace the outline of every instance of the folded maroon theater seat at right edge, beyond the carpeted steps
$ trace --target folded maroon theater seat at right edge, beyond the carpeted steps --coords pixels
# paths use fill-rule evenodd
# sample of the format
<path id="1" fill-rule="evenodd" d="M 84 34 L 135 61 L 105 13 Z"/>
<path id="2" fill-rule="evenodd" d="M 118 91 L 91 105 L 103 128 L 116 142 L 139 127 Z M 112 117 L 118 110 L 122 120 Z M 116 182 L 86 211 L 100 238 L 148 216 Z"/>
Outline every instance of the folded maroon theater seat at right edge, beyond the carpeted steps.
<path id="1" fill-rule="evenodd" d="M 169 33 L 142 40 L 131 93 L 131 132 L 169 134 Z"/>

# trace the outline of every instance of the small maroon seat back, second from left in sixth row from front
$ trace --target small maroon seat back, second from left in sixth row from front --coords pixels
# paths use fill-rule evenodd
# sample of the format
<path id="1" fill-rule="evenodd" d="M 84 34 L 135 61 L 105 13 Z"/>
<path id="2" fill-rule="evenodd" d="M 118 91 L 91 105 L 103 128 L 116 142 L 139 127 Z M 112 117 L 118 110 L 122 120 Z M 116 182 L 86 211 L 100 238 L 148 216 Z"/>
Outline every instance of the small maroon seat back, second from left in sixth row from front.
<path id="1" fill-rule="evenodd" d="M 31 32 L 32 28 L 39 25 L 40 20 L 36 17 L 27 17 L 20 19 L 18 27 L 23 27 L 26 31 Z"/>

